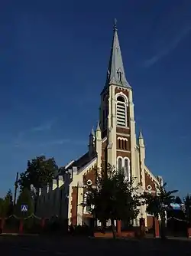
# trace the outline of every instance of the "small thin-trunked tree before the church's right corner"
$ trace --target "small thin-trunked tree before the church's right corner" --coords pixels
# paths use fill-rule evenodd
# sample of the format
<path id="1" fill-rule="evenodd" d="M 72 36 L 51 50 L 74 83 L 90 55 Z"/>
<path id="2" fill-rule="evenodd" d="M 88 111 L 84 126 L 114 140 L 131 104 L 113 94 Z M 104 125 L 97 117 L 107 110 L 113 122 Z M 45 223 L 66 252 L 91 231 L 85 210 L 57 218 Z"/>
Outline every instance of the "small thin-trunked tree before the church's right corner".
<path id="1" fill-rule="evenodd" d="M 178 190 L 167 191 L 167 183 L 163 185 L 158 185 L 157 194 L 151 195 L 147 192 L 144 192 L 144 195 L 141 196 L 141 199 L 144 199 L 143 204 L 147 205 L 147 212 L 151 215 L 154 215 L 157 219 L 161 219 L 161 238 L 166 238 L 165 235 L 165 221 L 166 221 L 166 209 L 170 207 L 170 204 L 174 202 L 174 193 Z"/>

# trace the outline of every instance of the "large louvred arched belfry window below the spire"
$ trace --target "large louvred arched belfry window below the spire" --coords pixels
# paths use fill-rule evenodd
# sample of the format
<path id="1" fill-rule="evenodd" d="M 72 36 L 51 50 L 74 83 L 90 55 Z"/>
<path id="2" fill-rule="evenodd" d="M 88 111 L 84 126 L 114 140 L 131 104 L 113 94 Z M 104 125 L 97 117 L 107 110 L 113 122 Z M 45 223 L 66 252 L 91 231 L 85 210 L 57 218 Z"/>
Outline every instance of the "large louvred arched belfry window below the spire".
<path id="1" fill-rule="evenodd" d="M 125 97 L 118 96 L 116 104 L 117 126 L 127 126 L 127 106 Z"/>

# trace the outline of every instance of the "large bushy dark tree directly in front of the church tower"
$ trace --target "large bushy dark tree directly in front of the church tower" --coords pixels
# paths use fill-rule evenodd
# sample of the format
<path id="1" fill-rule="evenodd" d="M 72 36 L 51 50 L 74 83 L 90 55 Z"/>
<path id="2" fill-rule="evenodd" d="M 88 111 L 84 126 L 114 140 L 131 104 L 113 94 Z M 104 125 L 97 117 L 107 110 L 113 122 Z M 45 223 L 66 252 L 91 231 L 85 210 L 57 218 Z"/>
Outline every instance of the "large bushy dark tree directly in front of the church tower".
<path id="1" fill-rule="evenodd" d="M 105 223 L 111 220 L 113 237 L 115 238 L 115 220 L 129 222 L 138 216 L 140 200 L 134 181 L 128 182 L 124 172 L 117 172 L 108 166 L 105 175 L 96 171 L 96 186 L 89 185 L 84 205 L 92 205 L 90 211 L 94 218 Z M 102 172 L 103 173 L 103 172 Z"/>

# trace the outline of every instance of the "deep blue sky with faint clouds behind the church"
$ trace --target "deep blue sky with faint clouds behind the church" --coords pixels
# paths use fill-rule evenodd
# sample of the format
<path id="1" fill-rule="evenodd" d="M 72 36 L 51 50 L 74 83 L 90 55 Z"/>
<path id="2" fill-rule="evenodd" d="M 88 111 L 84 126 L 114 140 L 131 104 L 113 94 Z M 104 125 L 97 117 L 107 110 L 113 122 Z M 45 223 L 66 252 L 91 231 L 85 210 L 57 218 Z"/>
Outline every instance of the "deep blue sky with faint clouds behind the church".
<path id="1" fill-rule="evenodd" d="M 190 8 L 189 0 L 3 1 L 0 195 L 28 159 L 65 165 L 86 151 L 114 18 L 147 166 L 170 189 L 191 192 Z"/>

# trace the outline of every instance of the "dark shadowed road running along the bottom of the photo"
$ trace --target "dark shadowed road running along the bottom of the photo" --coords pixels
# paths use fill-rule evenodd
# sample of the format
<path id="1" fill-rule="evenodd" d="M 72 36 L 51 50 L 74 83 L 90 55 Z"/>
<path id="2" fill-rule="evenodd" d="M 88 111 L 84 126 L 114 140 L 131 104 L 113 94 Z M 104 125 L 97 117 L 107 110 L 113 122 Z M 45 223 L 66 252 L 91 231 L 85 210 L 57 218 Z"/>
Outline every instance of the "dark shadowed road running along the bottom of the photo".
<path id="1" fill-rule="evenodd" d="M 147 239 L 112 241 L 88 238 L 0 237 L 0 254 L 11 256 L 131 256 L 191 255 L 191 241 Z"/>

